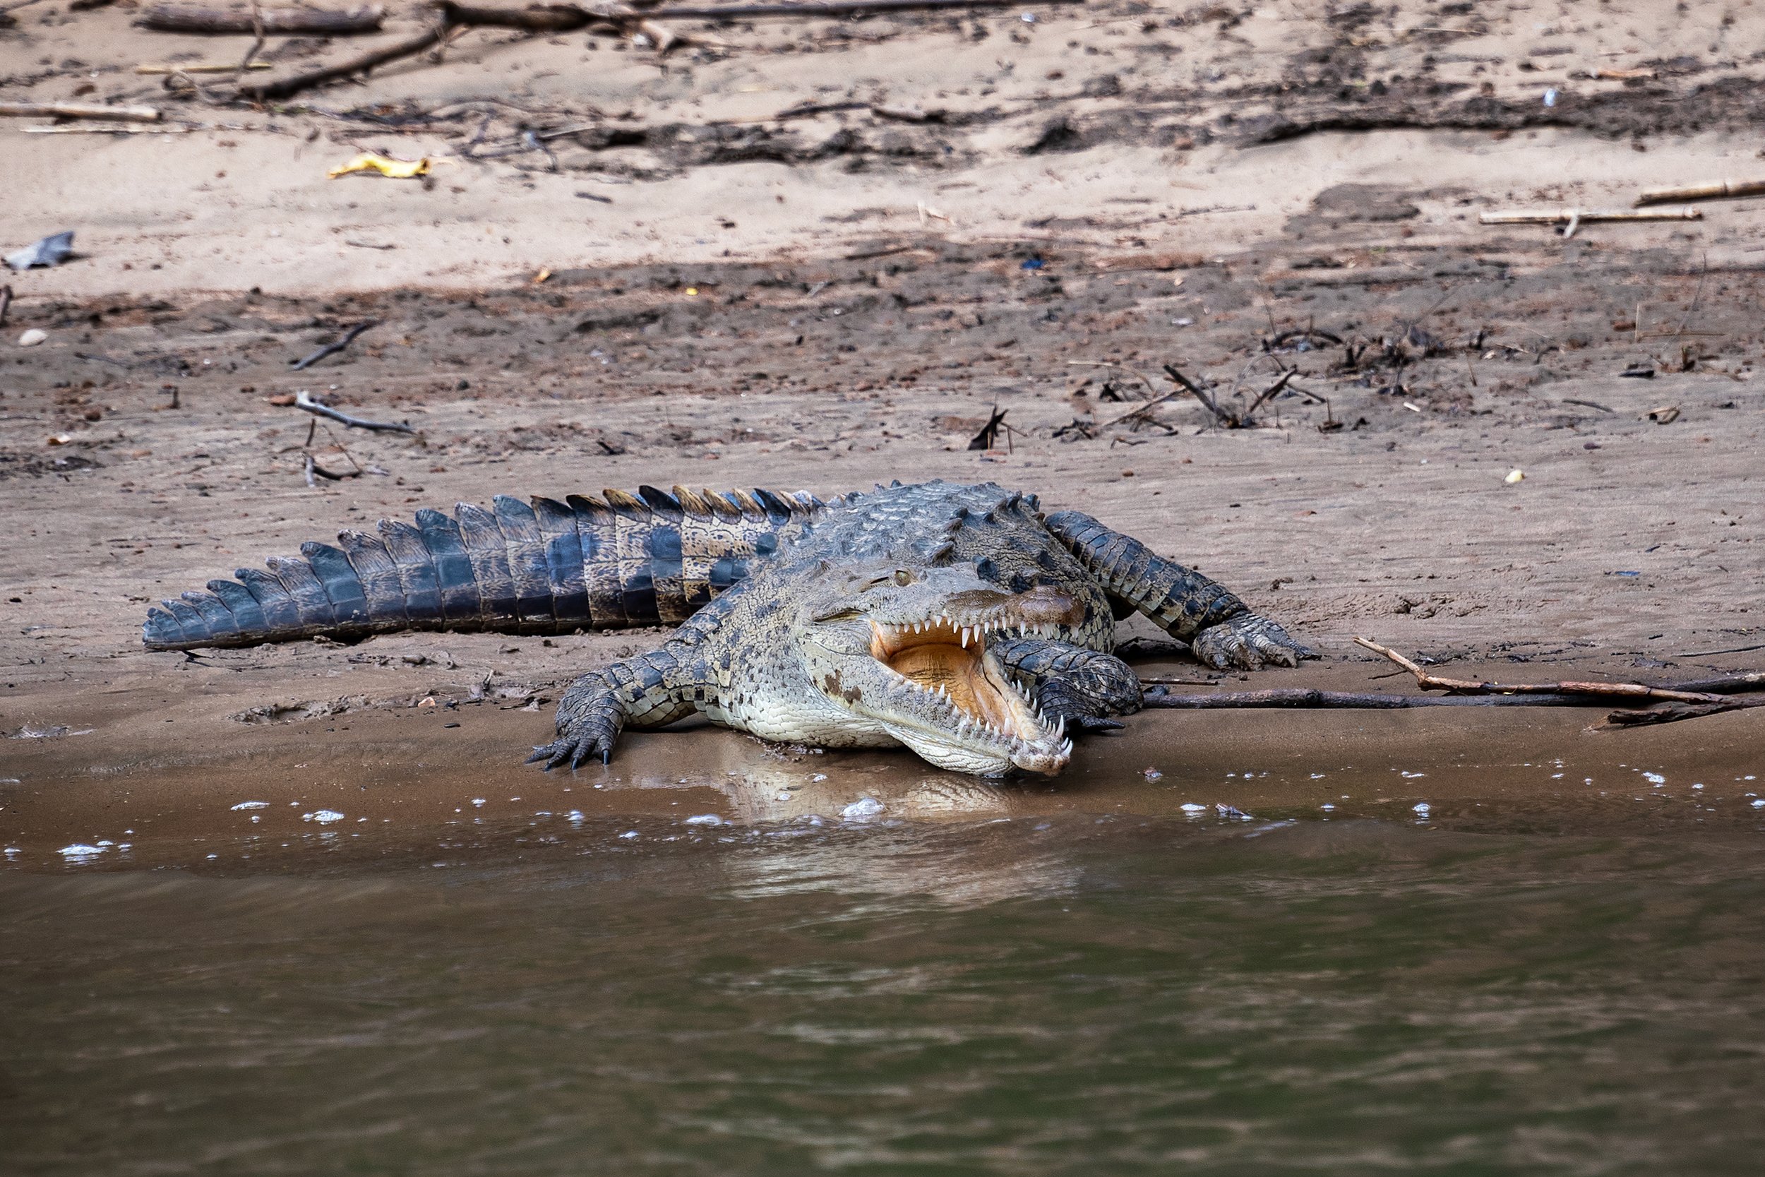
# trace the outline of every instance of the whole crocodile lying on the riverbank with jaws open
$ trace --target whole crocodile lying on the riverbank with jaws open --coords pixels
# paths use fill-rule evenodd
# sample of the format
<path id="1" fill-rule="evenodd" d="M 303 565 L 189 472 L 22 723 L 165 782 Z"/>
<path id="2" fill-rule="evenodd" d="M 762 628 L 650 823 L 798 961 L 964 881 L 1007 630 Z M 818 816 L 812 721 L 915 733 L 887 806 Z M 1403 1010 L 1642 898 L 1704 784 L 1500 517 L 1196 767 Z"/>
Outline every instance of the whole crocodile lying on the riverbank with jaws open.
<path id="1" fill-rule="evenodd" d="M 676 626 L 572 683 L 556 739 L 528 757 L 547 769 L 607 762 L 623 729 L 697 713 L 773 741 L 1054 775 L 1070 731 L 1142 706 L 1114 655 L 1135 611 L 1213 667 L 1317 656 L 1198 572 L 994 484 L 498 496 L 235 577 L 152 609 L 146 648 Z"/>

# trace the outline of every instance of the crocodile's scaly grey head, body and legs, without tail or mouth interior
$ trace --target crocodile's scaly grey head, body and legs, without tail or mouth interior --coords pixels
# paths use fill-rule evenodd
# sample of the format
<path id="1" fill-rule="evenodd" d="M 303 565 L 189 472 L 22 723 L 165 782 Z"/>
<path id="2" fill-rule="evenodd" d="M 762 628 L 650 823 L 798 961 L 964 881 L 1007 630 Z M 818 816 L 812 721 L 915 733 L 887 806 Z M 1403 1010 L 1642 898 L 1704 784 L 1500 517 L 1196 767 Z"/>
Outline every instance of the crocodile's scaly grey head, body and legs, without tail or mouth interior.
<path id="1" fill-rule="evenodd" d="M 1036 732 L 1001 748 L 891 679 L 870 655 L 870 623 L 941 611 L 965 619 L 976 607 L 1013 626 L 1027 621 L 1038 633 L 994 641 L 988 665 L 1055 723 L 1101 727 L 1140 708 L 1138 679 L 1110 655 L 1112 600 L 1188 639 L 1211 665 L 1311 656 L 1221 586 L 1087 515 L 1045 521 L 1033 499 L 994 485 L 890 487 L 828 505 L 660 651 L 579 679 L 560 702 L 558 739 L 531 759 L 605 761 L 625 723 L 653 727 L 695 709 L 768 739 L 904 743 L 978 775 L 1055 773 L 1068 759 L 1057 738 Z"/>

